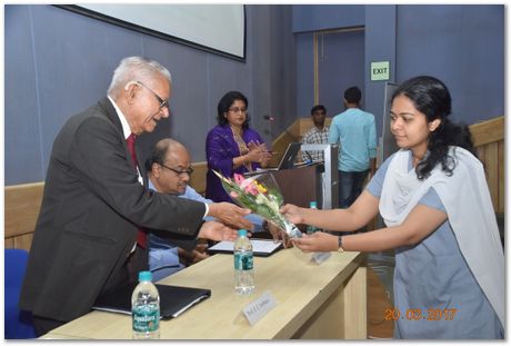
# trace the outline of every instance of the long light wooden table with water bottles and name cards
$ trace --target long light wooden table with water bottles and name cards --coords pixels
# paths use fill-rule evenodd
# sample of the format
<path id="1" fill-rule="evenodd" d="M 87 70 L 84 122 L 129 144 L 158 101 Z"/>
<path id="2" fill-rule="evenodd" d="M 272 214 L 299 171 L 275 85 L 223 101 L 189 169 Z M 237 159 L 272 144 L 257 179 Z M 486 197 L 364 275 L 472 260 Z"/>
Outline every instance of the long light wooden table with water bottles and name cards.
<path id="1" fill-rule="evenodd" d="M 281 249 L 254 257 L 255 290 L 234 293 L 231 254 L 217 254 L 158 284 L 211 289 L 211 297 L 177 318 L 161 320 L 161 339 L 364 339 L 367 255 Z M 252 325 L 243 308 L 268 294 L 277 305 Z M 43 339 L 130 339 L 131 316 L 93 310 Z"/>

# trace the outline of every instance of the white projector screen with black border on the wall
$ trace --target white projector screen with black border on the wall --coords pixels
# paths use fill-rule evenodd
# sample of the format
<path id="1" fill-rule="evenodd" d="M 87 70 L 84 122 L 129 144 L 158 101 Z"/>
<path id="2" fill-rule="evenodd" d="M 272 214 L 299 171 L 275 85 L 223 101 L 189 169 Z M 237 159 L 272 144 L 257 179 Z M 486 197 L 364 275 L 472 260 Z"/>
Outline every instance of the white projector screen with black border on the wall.
<path id="1" fill-rule="evenodd" d="M 124 28 L 244 61 L 243 4 L 58 6 Z"/>

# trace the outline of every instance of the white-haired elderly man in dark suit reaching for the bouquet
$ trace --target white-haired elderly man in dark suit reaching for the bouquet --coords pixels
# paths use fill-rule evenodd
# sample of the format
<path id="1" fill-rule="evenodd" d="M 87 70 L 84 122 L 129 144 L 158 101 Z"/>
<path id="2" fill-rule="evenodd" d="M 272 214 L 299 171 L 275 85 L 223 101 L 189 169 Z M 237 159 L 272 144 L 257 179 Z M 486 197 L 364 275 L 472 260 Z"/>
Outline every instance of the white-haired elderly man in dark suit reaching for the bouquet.
<path id="1" fill-rule="evenodd" d="M 249 210 L 206 205 L 147 189 L 134 137 L 169 117 L 170 72 L 157 61 L 123 59 L 108 98 L 71 117 L 58 134 L 33 235 L 20 308 L 38 335 L 91 310 L 97 298 L 148 268 L 146 229 L 193 239 L 233 239 L 252 228 Z M 204 216 L 223 224 L 203 224 Z"/>

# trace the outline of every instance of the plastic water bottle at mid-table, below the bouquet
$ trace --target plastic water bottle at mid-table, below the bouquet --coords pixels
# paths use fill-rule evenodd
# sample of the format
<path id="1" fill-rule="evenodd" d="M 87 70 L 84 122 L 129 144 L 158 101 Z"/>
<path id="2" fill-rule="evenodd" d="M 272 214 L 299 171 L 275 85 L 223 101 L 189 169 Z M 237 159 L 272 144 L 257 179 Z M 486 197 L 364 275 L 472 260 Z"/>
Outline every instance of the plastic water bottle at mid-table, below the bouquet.
<path id="1" fill-rule="evenodd" d="M 255 288 L 252 244 L 247 237 L 247 229 L 238 230 L 234 241 L 234 290 L 240 295 L 248 295 Z"/>

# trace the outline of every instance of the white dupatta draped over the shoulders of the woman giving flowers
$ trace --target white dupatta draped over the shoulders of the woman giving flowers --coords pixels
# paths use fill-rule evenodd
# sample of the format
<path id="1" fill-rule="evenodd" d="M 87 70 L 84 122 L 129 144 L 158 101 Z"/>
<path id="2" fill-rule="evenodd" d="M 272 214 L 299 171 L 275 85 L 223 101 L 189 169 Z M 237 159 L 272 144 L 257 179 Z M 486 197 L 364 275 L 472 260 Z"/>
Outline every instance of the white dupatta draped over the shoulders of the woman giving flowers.
<path id="1" fill-rule="evenodd" d="M 505 328 L 504 254 L 484 170 L 463 148 L 450 147 L 449 155 L 455 160 L 452 176 L 437 165 L 429 178 L 419 180 L 414 169 L 408 170 L 409 151 L 399 150 L 383 181 L 380 214 L 387 226 L 400 225 L 428 189 L 434 188 L 461 254 Z"/>

